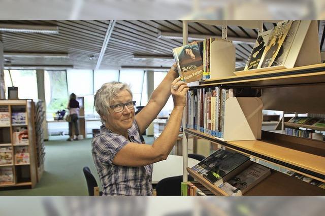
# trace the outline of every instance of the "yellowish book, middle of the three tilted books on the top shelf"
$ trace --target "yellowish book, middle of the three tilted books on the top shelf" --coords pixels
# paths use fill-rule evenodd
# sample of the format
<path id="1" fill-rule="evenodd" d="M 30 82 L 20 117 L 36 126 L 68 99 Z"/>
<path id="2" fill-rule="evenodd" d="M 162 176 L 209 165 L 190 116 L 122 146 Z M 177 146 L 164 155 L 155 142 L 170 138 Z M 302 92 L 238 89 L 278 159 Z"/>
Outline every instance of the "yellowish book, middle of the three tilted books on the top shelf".
<path id="1" fill-rule="evenodd" d="M 270 67 L 276 58 L 293 21 L 279 22 L 270 34 L 268 43 L 257 68 Z"/>

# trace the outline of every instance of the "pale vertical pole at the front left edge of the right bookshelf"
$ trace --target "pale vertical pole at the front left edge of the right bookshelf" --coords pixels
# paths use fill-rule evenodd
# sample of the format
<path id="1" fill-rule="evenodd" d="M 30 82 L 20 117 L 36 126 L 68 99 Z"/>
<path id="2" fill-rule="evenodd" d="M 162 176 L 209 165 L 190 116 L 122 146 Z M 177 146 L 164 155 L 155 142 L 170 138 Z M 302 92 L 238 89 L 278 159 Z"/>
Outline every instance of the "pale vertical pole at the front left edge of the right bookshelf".
<path id="1" fill-rule="evenodd" d="M 187 44 L 187 21 L 183 20 L 183 45 Z M 183 182 L 187 182 L 187 138 L 185 135 L 185 109 L 186 107 L 184 107 L 184 111 L 183 111 L 183 120 L 182 120 L 182 125 L 183 125 L 183 139 L 182 139 L 182 155 L 183 155 Z"/>

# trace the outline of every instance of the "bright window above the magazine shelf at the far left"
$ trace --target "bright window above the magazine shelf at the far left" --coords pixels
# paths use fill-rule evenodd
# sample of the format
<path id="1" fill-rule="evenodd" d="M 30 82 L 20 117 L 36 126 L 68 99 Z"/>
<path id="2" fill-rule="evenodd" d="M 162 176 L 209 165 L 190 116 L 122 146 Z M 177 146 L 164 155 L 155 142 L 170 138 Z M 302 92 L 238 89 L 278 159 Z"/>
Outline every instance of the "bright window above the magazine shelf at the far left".
<path id="1" fill-rule="evenodd" d="M 12 86 L 11 74 L 13 86 L 18 87 L 19 99 L 38 99 L 36 70 L 10 70 L 10 74 L 9 70 L 4 70 L 4 73 L 7 98 L 8 86 Z"/>

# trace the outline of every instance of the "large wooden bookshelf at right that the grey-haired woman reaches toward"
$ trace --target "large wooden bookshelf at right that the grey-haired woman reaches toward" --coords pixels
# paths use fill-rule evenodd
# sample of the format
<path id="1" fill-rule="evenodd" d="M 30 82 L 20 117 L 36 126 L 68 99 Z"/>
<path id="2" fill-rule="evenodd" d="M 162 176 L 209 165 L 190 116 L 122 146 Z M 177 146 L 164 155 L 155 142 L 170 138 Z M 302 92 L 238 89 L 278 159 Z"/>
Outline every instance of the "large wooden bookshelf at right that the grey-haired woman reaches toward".
<path id="1" fill-rule="evenodd" d="M 183 28 L 183 31 L 187 29 Z M 186 35 L 186 34 L 183 34 Z M 183 37 L 184 40 L 184 37 Z M 186 41 L 186 40 L 185 40 Z M 310 39 L 308 39 L 310 41 Z M 301 53 L 299 55 L 302 55 Z M 212 73 L 212 71 L 211 71 Z M 202 87 L 221 88 L 252 88 L 261 89 L 264 110 L 283 112 L 304 112 L 323 114 L 325 101 L 325 64 L 280 68 L 259 73 L 238 73 L 231 76 L 193 82 L 190 90 Z M 317 93 L 316 93 L 317 92 Z M 290 95 L 288 97 L 288 95 Z M 227 99 L 229 100 L 229 99 Z M 301 102 L 303 101 L 303 102 Z M 232 113 L 225 113 L 232 115 Z M 227 116 L 224 117 L 228 118 Z M 294 126 L 294 125 L 292 125 Z M 295 125 L 296 127 L 298 125 Z M 299 125 L 299 127 L 302 127 Z M 186 128 L 184 133 L 206 139 L 212 145 L 221 145 L 246 155 L 252 161 L 264 161 L 277 167 L 295 171 L 308 177 L 325 182 L 325 142 L 309 138 L 294 137 L 285 134 L 262 131 L 261 138 L 252 140 L 222 139 Z M 310 128 L 310 127 L 308 127 Z M 315 129 L 315 128 L 314 128 Z M 317 128 L 317 130 L 324 128 Z M 241 133 L 241 129 L 237 129 Z M 186 136 L 183 137 L 183 148 L 186 146 Z M 187 157 L 183 154 L 183 157 Z M 185 161 L 185 160 L 184 160 Z M 184 163 L 186 166 L 186 163 Z M 186 166 L 186 171 L 215 195 L 226 195 L 202 175 Z M 184 176 L 183 175 L 183 176 Z M 187 178 L 183 178 L 187 181 Z M 272 170 L 271 175 L 254 186 L 244 195 L 324 195 L 325 190 L 310 185 L 295 177 Z"/>

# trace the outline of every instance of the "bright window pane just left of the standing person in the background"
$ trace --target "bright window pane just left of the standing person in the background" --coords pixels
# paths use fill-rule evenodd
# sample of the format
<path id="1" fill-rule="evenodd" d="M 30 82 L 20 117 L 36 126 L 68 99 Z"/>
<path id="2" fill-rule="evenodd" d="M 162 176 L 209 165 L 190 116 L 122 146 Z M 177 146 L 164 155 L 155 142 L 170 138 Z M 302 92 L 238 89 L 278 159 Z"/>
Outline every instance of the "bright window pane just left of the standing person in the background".
<path id="1" fill-rule="evenodd" d="M 45 70 L 44 73 L 46 117 L 53 119 L 53 113 L 67 109 L 68 88 L 65 70 Z"/>

